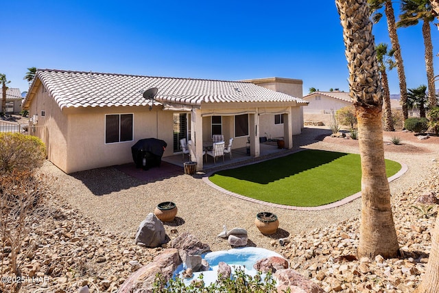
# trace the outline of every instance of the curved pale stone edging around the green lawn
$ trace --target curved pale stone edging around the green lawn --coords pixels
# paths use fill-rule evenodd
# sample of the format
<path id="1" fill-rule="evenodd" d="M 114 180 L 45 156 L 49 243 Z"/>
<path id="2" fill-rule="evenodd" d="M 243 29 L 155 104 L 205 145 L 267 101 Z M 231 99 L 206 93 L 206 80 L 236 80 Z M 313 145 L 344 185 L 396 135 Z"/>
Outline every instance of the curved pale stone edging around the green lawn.
<path id="1" fill-rule="evenodd" d="M 300 152 L 300 151 L 301 150 L 298 150 L 297 152 Z M 290 154 L 292 154 L 292 153 L 290 153 Z M 266 160 L 264 160 L 264 161 L 266 161 Z M 392 160 L 392 161 L 395 161 L 395 160 Z M 260 162 L 261 161 L 255 162 L 255 163 L 260 163 Z M 405 165 L 404 163 L 401 163 L 398 161 L 395 161 L 395 162 L 401 164 L 401 169 L 399 170 L 399 172 L 396 172 L 396 174 L 394 174 L 393 176 L 390 176 L 388 178 L 389 183 L 392 182 L 393 180 L 401 177 L 408 170 L 407 165 Z M 252 164 L 254 164 L 254 163 L 248 163 L 245 165 L 252 165 Z M 224 168 L 224 169 L 232 169 L 232 168 L 229 167 L 229 168 Z M 249 198 L 248 196 L 243 196 L 241 194 L 235 194 L 235 192 L 228 191 L 227 189 L 219 187 L 218 185 L 213 183 L 211 180 L 209 180 L 209 177 L 218 171 L 220 171 L 220 170 L 215 170 L 215 171 L 209 172 L 207 174 L 204 174 L 204 176 L 202 177 L 203 182 L 206 183 L 207 185 L 217 189 L 217 191 L 221 191 L 223 194 L 227 194 L 229 196 L 234 196 L 235 198 L 240 198 L 241 200 L 247 200 L 248 202 L 263 204 L 263 205 L 268 206 L 268 207 L 276 207 L 279 209 L 289 209 L 289 210 L 296 210 L 296 211 L 320 211 L 322 209 L 332 209 L 333 207 L 340 207 L 343 204 L 347 204 L 348 202 L 352 202 L 353 200 L 356 200 L 357 198 L 361 197 L 361 191 L 358 191 L 356 194 L 353 194 L 352 196 L 348 196 L 348 197 L 343 198 L 342 200 L 338 200 L 336 202 L 331 202 L 330 204 L 323 204 L 323 205 L 318 206 L 318 207 L 295 207 L 295 206 L 289 206 L 289 205 L 285 205 L 285 204 L 275 204 L 272 202 L 264 202 L 263 200 L 257 200 L 254 198 Z"/>

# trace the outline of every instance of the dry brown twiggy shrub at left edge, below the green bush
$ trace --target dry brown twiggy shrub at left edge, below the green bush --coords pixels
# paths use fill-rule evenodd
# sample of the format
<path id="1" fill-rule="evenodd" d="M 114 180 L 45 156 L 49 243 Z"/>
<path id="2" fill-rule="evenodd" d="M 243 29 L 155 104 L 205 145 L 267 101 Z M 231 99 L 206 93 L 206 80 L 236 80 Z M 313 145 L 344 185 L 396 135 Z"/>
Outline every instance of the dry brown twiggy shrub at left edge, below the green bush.
<path id="1" fill-rule="evenodd" d="M 36 176 L 31 170 L 14 170 L 0 176 L 0 248 L 8 253 L 0 261 L 0 277 L 21 279 L 21 266 L 35 249 L 34 242 L 28 242 L 29 233 L 34 231 L 36 219 L 47 217 L 49 210 L 45 201 L 51 193 L 54 181 L 47 176 Z M 0 292 L 19 292 L 21 282 L 1 282 Z"/>

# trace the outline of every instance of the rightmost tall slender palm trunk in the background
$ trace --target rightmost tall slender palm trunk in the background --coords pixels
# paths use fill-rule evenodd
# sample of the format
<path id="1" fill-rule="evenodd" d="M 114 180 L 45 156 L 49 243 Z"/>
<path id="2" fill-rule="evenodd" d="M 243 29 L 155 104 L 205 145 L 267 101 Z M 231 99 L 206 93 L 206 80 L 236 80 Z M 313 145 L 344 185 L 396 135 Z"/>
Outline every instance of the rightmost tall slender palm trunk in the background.
<path id="1" fill-rule="evenodd" d="M 436 106 L 436 86 L 434 84 L 433 44 L 431 44 L 430 23 L 423 21 L 423 37 L 425 45 L 425 69 L 427 69 L 429 108 Z"/>

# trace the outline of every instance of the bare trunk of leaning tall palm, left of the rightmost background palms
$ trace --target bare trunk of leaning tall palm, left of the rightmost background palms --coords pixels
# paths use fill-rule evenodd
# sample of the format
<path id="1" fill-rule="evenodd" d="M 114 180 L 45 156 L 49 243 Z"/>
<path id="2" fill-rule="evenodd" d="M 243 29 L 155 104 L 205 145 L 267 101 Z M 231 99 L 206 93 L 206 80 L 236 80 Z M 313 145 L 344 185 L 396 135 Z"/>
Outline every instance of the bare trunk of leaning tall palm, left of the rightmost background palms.
<path id="1" fill-rule="evenodd" d="M 405 72 L 403 56 L 401 56 L 401 46 L 399 45 L 398 34 L 396 34 L 396 21 L 395 14 L 392 6 L 392 1 L 385 1 L 385 17 L 387 19 L 387 26 L 389 31 L 390 43 L 392 43 L 392 49 L 394 49 L 394 56 L 396 61 L 396 70 L 399 77 L 399 93 L 401 95 L 401 106 L 403 107 L 404 120 L 409 117 L 407 110 L 407 82 L 405 82 Z"/>

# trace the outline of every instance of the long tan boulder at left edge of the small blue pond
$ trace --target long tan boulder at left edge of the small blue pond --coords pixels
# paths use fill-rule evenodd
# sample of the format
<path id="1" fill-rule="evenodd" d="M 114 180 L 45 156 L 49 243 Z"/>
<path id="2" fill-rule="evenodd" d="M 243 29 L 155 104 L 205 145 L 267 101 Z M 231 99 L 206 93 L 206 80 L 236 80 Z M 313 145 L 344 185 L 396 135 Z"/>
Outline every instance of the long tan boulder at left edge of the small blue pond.
<path id="1" fill-rule="evenodd" d="M 175 248 L 165 249 L 163 253 L 154 258 L 152 263 L 148 263 L 137 270 L 137 272 L 134 272 L 134 274 L 131 274 L 123 282 L 118 292 L 153 292 L 156 274 L 162 274 L 165 280 L 169 281 L 180 264 L 181 259 L 178 255 L 178 250 Z"/>

